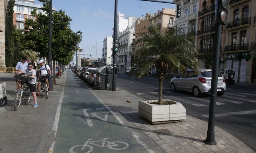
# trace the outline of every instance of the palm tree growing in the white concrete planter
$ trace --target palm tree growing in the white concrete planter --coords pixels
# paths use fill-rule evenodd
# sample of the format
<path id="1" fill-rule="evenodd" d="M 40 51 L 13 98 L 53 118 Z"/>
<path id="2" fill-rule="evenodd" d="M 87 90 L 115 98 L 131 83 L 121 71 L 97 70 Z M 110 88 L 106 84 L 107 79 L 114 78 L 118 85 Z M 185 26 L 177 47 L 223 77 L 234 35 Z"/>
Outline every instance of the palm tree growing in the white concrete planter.
<path id="1" fill-rule="evenodd" d="M 162 32 L 159 26 L 151 26 L 148 31 L 149 33 L 144 34 L 144 38 L 138 41 L 144 42 L 144 47 L 135 53 L 135 64 L 139 66 L 136 81 L 146 76 L 151 67 L 155 66 L 159 77 L 158 103 L 163 104 L 162 87 L 165 75 L 172 70 L 184 72 L 187 67 L 197 68 L 197 58 L 195 54 L 190 53 L 193 50 L 197 54 L 197 51 L 192 43 L 193 37 L 180 33 L 184 28 Z"/>

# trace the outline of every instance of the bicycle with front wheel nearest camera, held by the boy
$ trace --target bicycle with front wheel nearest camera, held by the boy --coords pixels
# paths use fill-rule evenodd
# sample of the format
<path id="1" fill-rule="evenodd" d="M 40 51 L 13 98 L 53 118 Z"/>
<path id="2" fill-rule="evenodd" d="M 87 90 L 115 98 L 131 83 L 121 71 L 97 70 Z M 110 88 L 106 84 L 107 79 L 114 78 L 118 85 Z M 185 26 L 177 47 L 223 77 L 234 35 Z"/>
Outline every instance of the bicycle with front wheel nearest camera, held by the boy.
<path id="1" fill-rule="evenodd" d="M 16 81 L 21 82 L 21 88 L 16 92 L 16 97 L 14 98 L 14 109 L 18 110 L 18 108 L 21 105 L 21 101 L 24 101 L 27 105 L 30 102 L 31 97 L 31 91 L 30 91 L 30 85 L 27 83 L 27 77 L 26 76 L 15 76 Z M 32 78 L 31 78 L 32 79 Z"/>

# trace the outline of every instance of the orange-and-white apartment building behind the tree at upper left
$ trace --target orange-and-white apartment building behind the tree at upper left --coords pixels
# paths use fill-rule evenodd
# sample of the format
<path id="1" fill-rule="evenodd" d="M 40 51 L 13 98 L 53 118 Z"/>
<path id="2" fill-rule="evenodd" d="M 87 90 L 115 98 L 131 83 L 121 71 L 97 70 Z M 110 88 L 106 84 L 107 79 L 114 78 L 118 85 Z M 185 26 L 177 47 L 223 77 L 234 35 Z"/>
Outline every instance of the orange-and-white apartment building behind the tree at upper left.
<path id="1" fill-rule="evenodd" d="M 37 9 L 37 13 L 41 12 L 42 14 L 46 14 L 46 12 L 43 12 L 41 8 L 43 5 L 35 4 L 35 0 L 15 0 L 14 3 L 14 25 L 18 29 L 24 28 L 24 22 L 25 19 L 33 19 L 36 18 L 31 15 L 31 11 L 34 9 Z M 56 11 L 56 8 L 53 7 L 53 11 Z"/>

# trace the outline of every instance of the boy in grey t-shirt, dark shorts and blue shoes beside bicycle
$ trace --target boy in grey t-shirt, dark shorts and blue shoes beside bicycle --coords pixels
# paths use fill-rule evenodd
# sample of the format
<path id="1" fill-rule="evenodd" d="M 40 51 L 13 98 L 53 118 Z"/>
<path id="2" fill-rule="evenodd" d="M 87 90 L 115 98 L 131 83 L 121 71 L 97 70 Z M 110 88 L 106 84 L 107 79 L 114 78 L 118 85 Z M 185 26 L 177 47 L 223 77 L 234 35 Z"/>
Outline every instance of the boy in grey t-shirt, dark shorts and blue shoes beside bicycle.
<path id="1" fill-rule="evenodd" d="M 28 76 L 27 82 L 30 85 L 30 91 L 32 92 L 33 98 L 34 98 L 34 105 L 33 107 L 37 107 L 37 95 L 36 95 L 36 70 L 34 70 L 34 65 L 33 63 L 28 63 L 28 68 L 26 70 L 20 71 L 17 74 L 22 74 L 24 73 L 25 75 L 22 76 Z"/>

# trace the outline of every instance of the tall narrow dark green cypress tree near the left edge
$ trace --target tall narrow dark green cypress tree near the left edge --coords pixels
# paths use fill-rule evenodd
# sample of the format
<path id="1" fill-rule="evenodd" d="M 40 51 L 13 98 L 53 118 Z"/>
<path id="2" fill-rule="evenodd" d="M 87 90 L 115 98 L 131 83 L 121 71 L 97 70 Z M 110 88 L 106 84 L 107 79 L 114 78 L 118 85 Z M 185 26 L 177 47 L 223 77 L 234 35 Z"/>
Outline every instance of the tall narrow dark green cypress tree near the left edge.
<path id="1" fill-rule="evenodd" d="M 13 67 L 14 63 L 14 36 L 15 27 L 13 24 L 15 0 L 9 0 L 6 9 L 6 22 L 5 22 L 5 65 L 7 67 Z"/>

